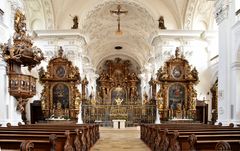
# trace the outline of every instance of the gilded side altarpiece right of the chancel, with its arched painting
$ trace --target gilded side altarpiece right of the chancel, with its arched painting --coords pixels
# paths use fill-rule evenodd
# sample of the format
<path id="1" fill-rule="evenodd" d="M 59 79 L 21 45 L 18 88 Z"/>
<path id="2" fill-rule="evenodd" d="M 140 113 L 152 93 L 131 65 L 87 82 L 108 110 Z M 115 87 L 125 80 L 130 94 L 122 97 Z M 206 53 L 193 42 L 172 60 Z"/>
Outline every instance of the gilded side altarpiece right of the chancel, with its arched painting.
<path id="1" fill-rule="evenodd" d="M 198 82 L 196 68 L 191 69 L 177 48 L 175 56 L 158 70 L 155 81 L 160 84 L 156 98 L 161 120 L 196 118 L 197 93 L 194 85 Z"/>

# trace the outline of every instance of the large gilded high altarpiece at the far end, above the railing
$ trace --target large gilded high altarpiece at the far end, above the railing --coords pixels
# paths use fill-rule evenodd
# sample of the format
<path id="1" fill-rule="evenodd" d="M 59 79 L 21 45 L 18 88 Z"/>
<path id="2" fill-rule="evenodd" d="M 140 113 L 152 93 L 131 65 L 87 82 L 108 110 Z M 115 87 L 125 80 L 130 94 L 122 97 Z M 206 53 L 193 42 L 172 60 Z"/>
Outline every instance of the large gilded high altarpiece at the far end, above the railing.
<path id="1" fill-rule="evenodd" d="M 107 60 L 105 70 L 98 79 L 99 95 L 103 104 L 116 104 L 116 99 L 123 99 L 121 104 L 136 104 L 138 101 L 139 79 L 130 71 L 130 61 L 115 58 Z"/>

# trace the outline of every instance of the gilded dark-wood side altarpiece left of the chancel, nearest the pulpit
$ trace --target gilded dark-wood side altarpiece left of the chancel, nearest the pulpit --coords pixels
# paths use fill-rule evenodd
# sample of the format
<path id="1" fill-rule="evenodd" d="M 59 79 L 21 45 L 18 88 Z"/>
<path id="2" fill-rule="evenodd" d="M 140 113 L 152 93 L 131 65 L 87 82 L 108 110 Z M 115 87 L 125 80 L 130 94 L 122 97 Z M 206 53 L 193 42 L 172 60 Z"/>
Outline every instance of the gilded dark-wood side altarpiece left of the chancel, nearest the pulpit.
<path id="1" fill-rule="evenodd" d="M 53 57 L 45 72 L 39 70 L 44 88 L 41 93 L 41 107 L 45 118 L 76 119 L 81 100 L 77 85 L 81 83 L 80 73 L 72 62 L 63 56 L 60 47 L 58 56 Z"/>

